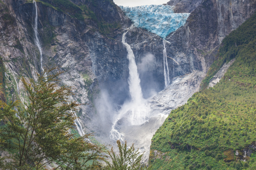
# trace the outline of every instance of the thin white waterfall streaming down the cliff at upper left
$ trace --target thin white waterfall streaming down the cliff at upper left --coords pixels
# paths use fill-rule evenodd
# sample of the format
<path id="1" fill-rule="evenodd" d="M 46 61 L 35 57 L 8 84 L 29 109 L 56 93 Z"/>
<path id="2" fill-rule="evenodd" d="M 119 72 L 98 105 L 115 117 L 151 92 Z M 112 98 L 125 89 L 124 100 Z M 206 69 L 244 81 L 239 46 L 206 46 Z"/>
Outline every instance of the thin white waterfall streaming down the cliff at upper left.
<path id="1" fill-rule="evenodd" d="M 37 28 L 37 20 L 38 20 L 38 13 L 37 13 L 37 3 L 33 1 L 34 7 L 33 7 L 33 18 L 34 18 L 34 24 L 33 24 L 33 29 L 34 29 L 34 41 L 35 45 L 37 46 L 39 52 L 40 52 L 40 63 L 41 63 L 41 69 L 44 72 L 43 68 L 43 57 L 42 57 L 42 46 L 39 41 L 39 35 L 38 35 L 38 28 Z M 34 12 L 35 11 L 35 12 Z M 35 17 L 34 17 L 35 14 Z"/>

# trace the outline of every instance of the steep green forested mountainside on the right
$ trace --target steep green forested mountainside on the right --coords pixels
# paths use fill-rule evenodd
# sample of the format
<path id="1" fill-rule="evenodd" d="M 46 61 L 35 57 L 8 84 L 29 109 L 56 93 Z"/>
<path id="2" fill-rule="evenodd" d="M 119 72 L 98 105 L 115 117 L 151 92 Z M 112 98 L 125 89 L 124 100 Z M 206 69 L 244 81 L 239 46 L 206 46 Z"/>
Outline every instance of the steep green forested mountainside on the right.
<path id="1" fill-rule="evenodd" d="M 203 90 L 173 110 L 155 133 L 153 169 L 256 167 L 255 155 L 244 158 L 242 151 L 256 141 L 256 15 L 223 40 L 217 57 Z M 233 58 L 221 81 L 207 89 L 212 76 Z M 246 162 L 236 161 L 241 159 Z"/>

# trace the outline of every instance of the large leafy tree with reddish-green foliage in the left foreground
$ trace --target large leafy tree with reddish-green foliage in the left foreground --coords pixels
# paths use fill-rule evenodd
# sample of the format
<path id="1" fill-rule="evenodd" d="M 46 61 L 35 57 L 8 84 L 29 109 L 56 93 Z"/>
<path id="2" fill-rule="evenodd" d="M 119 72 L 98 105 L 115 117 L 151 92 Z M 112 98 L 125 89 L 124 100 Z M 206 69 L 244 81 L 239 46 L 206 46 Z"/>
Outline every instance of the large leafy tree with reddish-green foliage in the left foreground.
<path id="1" fill-rule="evenodd" d="M 76 138 L 70 133 L 79 104 L 68 101 L 71 87 L 58 86 L 61 73 L 45 68 L 36 81 L 22 78 L 30 101 L 25 107 L 18 101 L 8 105 L 0 101 L 0 119 L 5 120 L 0 142 L 14 153 L 13 169 L 42 169 L 50 163 L 66 170 L 101 166 L 98 160 L 104 160 L 103 149 L 87 140 L 90 134 Z"/>

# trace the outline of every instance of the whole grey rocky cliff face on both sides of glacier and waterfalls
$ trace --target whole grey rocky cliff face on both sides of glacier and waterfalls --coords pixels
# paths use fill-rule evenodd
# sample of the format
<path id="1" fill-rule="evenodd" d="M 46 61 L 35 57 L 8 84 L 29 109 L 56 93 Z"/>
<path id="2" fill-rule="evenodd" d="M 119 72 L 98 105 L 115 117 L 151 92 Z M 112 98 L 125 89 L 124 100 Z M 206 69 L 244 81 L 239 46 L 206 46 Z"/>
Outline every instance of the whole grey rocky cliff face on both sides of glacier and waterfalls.
<path id="1" fill-rule="evenodd" d="M 19 78 L 36 78 L 36 73 L 42 71 L 32 28 L 33 3 L 30 0 L 0 0 L 0 4 L 0 56 L 6 73 L 5 97 L 7 101 L 26 101 L 26 92 Z M 88 103 L 82 105 L 78 112 L 84 130 L 96 132 L 96 137 L 102 137 L 98 139 L 107 139 L 113 121 L 112 111 L 118 110 L 130 97 L 127 51 L 121 42 L 123 33 L 129 28 L 126 42 L 135 54 L 137 65 L 143 63 L 148 53 L 155 57 L 153 64 L 145 67 L 146 70 L 139 70 L 145 98 L 148 91 L 153 89 L 159 92 L 164 88 L 162 38 L 144 29 L 130 27 L 131 21 L 112 0 L 72 0 L 72 4 L 66 8 L 65 4 L 37 0 L 37 26 L 43 47 L 43 65 L 57 65 L 66 71 L 60 79 L 61 83 L 75 87 L 71 100 Z M 178 8 L 178 4 L 173 1 L 171 5 Z M 178 11 L 193 12 L 183 27 L 166 38 L 169 41 L 166 50 L 170 78 L 190 74 L 195 77 L 189 77 L 188 82 L 193 82 L 193 78 L 200 76 L 192 83 L 193 90 L 184 88 L 185 98 L 179 99 L 176 105 L 198 90 L 201 75 L 214 61 L 221 40 L 255 11 L 255 0 L 206 0 L 202 3 L 196 1 L 195 4 L 191 9 L 185 6 L 182 7 L 183 11 Z M 191 74 L 194 71 L 198 74 Z M 178 83 L 177 87 L 180 86 Z M 170 89 L 177 87 L 172 85 Z M 104 92 L 108 98 L 99 98 Z M 105 104 L 106 100 L 110 104 Z M 175 102 L 175 106 L 166 104 L 163 106 L 177 107 Z M 103 109 L 97 110 L 97 106 Z M 110 107 L 113 109 L 106 111 Z M 161 112 L 162 109 L 165 110 L 157 110 Z M 161 122 L 152 135 L 160 125 Z"/>

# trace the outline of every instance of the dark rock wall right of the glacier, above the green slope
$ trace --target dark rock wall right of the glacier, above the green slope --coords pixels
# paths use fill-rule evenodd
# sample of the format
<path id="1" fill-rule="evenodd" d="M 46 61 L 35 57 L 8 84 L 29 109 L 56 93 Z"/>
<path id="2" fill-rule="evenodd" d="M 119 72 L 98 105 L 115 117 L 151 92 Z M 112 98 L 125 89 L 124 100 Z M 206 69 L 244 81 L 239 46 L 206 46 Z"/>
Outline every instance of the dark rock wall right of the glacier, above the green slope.
<path id="1" fill-rule="evenodd" d="M 175 2 L 169 1 L 168 4 L 186 10 L 180 4 L 182 1 Z M 170 41 L 166 47 L 169 48 L 167 55 L 175 60 L 190 60 L 193 69 L 206 72 L 215 60 L 223 38 L 252 16 L 255 8 L 255 0 L 203 1 L 191 9 L 187 23 L 166 38 Z"/>

